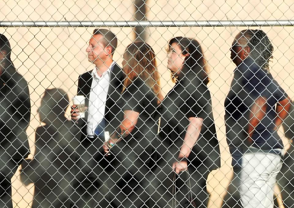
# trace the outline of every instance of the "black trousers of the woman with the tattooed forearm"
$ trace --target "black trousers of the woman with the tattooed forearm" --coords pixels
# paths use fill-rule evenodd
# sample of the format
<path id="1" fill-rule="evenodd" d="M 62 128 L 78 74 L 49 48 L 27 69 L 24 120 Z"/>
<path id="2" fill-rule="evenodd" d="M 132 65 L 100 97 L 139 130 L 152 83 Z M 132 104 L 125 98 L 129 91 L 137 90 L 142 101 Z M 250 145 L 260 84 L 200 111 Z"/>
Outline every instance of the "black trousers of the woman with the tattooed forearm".
<path id="1" fill-rule="evenodd" d="M 141 149 L 142 148 L 142 149 Z M 150 157 L 138 142 L 119 142 L 111 151 L 115 154 L 115 168 L 107 183 L 110 188 L 111 207 L 148 208 L 150 198 Z"/>

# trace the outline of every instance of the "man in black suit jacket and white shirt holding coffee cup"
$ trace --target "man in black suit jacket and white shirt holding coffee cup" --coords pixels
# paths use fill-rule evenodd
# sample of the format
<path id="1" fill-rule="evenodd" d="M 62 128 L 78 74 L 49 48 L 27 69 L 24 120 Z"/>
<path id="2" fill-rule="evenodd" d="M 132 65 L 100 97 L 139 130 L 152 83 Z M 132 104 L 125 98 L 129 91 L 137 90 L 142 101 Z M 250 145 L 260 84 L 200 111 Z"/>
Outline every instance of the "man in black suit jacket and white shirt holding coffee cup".
<path id="1" fill-rule="evenodd" d="M 123 115 L 120 107 L 123 71 L 112 60 L 117 46 L 115 35 L 105 29 L 95 29 L 86 50 L 95 68 L 79 76 L 77 95 L 85 96 L 85 118 L 78 119 L 72 106 L 72 120 L 81 128 L 81 145 L 77 148 L 75 167 L 74 207 L 109 205 L 107 179 L 114 156 L 104 157 L 104 133 L 111 134 Z"/>

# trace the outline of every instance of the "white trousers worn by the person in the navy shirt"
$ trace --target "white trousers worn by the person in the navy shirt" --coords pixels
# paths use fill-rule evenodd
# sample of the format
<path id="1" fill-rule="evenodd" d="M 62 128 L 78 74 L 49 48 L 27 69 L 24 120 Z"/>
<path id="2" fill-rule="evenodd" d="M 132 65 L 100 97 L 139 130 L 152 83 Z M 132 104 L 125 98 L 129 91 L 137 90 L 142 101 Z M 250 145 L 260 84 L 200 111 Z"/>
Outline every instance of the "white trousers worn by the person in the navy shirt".
<path id="1" fill-rule="evenodd" d="M 254 148 L 255 149 L 255 148 Z M 244 208 L 272 208 L 273 188 L 282 167 L 282 149 L 274 152 L 247 152 L 242 157 L 239 187 Z"/>

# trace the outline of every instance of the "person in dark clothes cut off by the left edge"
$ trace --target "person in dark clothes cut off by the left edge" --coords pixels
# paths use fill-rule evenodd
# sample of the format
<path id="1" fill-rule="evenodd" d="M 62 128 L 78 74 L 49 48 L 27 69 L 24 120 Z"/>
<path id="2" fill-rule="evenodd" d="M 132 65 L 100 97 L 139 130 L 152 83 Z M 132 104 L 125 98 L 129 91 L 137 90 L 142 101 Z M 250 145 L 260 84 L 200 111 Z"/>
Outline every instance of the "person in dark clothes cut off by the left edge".
<path id="1" fill-rule="evenodd" d="M 29 154 L 28 83 L 16 71 L 10 55 L 9 41 L 0 34 L 0 207 L 12 207 L 11 178 Z"/>

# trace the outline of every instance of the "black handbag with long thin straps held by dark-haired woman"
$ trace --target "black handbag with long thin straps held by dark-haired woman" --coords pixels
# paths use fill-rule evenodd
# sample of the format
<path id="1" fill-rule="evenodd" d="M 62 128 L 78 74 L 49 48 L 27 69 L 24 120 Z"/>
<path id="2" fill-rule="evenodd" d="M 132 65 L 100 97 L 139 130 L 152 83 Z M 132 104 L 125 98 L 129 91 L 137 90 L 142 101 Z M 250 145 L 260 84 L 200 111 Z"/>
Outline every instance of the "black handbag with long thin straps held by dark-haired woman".
<path id="1" fill-rule="evenodd" d="M 175 184 L 175 179 L 176 179 L 176 173 L 174 172 L 173 174 L 173 178 L 172 178 L 172 201 L 171 201 L 171 206 L 173 208 L 195 208 L 196 207 L 196 203 L 193 201 L 192 198 L 192 189 L 191 189 L 191 183 L 190 183 L 190 177 L 191 175 L 189 174 L 188 170 L 186 170 L 187 175 L 188 175 L 188 192 L 189 192 L 189 198 L 187 200 L 186 203 L 184 203 L 183 205 L 179 204 L 179 201 L 177 200 L 176 197 L 176 184 Z"/>

